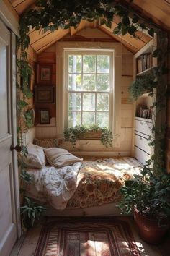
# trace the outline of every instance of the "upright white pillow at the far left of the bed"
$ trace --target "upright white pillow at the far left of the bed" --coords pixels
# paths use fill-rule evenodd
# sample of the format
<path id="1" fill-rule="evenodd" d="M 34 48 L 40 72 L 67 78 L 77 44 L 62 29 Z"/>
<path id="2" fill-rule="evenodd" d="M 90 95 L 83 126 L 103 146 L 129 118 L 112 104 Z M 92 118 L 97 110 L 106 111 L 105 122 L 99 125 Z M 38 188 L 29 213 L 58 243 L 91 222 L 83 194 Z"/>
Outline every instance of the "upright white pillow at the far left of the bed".
<path id="1" fill-rule="evenodd" d="M 29 143 L 27 145 L 28 154 L 24 158 L 24 164 L 27 168 L 42 168 L 47 163 L 44 148 Z"/>

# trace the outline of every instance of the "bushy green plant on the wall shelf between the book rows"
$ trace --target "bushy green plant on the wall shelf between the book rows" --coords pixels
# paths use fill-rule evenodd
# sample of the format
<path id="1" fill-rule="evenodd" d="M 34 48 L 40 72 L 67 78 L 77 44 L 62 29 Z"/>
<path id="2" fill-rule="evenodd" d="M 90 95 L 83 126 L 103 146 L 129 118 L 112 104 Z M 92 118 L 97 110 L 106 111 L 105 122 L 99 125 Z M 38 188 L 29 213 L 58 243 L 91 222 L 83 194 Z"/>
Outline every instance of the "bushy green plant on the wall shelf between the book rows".
<path id="1" fill-rule="evenodd" d="M 152 95 L 153 88 L 156 88 L 156 85 L 155 76 L 151 72 L 150 74 L 137 76 L 136 80 L 130 85 L 129 90 L 132 97 L 137 100 L 143 93 L 151 93 Z"/>

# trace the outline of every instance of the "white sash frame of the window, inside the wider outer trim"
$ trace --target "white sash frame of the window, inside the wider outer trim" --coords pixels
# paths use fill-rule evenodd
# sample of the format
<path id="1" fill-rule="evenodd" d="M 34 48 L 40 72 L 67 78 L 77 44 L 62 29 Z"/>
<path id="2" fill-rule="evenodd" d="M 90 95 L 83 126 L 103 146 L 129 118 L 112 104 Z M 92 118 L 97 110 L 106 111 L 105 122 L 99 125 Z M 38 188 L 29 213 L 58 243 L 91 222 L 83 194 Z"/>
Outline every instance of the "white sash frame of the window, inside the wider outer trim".
<path id="1" fill-rule="evenodd" d="M 109 91 L 86 91 L 86 90 L 80 90 L 80 91 L 74 91 L 74 90 L 68 90 L 68 56 L 69 55 L 108 55 L 109 56 Z M 109 49 L 69 49 L 66 48 L 64 49 L 64 91 L 65 91 L 65 96 L 66 96 L 66 108 L 65 108 L 65 120 L 64 120 L 64 127 L 65 129 L 68 127 L 68 93 L 81 93 L 81 111 L 76 111 L 76 112 L 81 112 L 83 113 L 83 93 L 93 93 L 95 94 L 95 103 L 97 104 L 97 93 L 106 93 L 109 94 L 109 111 L 105 111 L 109 113 L 109 129 L 112 130 L 112 119 L 113 119 L 113 91 L 115 88 L 114 85 L 114 80 L 113 80 L 113 74 L 115 72 L 114 70 L 114 64 L 115 64 L 115 51 L 114 50 L 109 50 Z M 81 67 L 81 77 L 83 77 L 83 74 L 88 74 L 83 72 L 83 68 Z M 95 72 L 94 74 L 97 74 Z M 85 112 L 95 112 L 95 119 L 96 119 L 96 113 L 100 112 L 97 111 L 96 106 L 94 111 L 85 111 Z M 104 111 L 101 111 L 104 113 Z M 81 114 L 81 124 L 82 124 L 82 114 Z"/>

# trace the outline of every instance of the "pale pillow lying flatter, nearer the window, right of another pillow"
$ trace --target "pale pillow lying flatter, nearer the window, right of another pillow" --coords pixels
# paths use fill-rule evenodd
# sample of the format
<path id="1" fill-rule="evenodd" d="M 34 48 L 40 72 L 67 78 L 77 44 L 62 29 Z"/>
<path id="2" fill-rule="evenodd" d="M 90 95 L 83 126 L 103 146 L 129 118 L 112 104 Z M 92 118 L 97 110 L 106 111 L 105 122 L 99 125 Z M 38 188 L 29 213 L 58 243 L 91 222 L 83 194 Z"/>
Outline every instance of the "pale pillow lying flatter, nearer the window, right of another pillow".
<path id="1" fill-rule="evenodd" d="M 67 150 L 63 148 L 47 148 L 44 150 L 48 163 L 51 166 L 61 168 L 63 166 L 71 166 L 71 164 L 76 162 L 82 162 L 82 158 L 77 158 L 72 155 Z"/>

